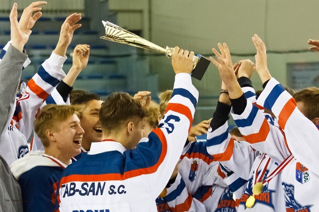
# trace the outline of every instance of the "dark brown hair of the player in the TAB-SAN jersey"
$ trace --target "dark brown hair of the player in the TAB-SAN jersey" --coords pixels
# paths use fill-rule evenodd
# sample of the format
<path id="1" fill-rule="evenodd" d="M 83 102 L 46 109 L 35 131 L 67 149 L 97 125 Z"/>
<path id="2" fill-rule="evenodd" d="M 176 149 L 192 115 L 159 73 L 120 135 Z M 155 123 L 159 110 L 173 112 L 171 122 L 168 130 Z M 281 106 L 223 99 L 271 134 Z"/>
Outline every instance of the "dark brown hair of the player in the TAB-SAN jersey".
<path id="1" fill-rule="evenodd" d="M 102 104 L 100 109 L 100 123 L 102 131 L 111 134 L 119 131 L 126 122 L 135 121 L 148 115 L 139 101 L 128 93 L 112 93 Z"/>

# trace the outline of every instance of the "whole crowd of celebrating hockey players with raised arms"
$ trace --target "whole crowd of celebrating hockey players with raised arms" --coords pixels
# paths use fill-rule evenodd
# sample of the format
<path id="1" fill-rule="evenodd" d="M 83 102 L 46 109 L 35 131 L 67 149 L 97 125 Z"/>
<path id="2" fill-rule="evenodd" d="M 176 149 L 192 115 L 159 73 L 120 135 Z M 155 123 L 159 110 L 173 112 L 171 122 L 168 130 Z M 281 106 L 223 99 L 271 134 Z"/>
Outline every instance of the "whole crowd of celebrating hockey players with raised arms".
<path id="1" fill-rule="evenodd" d="M 19 21 L 13 4 L 11 41 L 0 54 L 1 212 L 319 211 L 319 88 L 284 88 L 257 35 L 255 64 L 233 65 L 225 43 L 212 49 L 220 97 L 212 117 L 192 127 L 194 53 L 178 47 L 173 90 L 159 104 L 149 91 L 102 101 L 72 90 L 90 54 L 77 45 L 72 68 L 62 70 L 79 13 L 65 19 L 55 50 L 16 99 L 30 63 L 23 47 L 42 4 L 31 3 Z M 319 41 L 308 43 L 319 51 Z M 254 72 L 262 91 L 252 86 Z M 231 131 L 229 114 L 237 125 Z M 202 134 L 207 140 L 196 141 Z"/>

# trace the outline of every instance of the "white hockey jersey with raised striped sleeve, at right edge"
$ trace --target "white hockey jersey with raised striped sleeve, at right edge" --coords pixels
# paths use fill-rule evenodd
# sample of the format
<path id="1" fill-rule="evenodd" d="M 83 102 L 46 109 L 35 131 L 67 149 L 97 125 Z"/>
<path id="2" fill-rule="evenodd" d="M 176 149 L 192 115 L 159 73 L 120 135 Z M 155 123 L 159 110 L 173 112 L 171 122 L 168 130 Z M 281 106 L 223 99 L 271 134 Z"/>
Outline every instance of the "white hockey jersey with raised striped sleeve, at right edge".
<path id="1" fill-rule="evenodd" d="M 268 81 L 257 103 L 278 117 L 278 124 L 296 158 L 282 171 L 286 211 L 319 211 L 318 129 L 298 110 L 293 97 L 274 78 Z"/>

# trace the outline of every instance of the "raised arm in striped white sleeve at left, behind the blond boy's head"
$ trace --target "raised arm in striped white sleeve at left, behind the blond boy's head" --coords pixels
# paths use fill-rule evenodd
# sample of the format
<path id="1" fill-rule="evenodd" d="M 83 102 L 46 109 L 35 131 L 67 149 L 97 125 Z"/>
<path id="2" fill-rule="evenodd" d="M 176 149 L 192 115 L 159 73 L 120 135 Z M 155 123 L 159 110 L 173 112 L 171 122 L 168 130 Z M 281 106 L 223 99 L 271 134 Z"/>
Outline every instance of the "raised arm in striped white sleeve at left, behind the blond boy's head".
<path id="1" fill-rule="evenodd" d="M 17 108 L 13 119 L 18 130 L 26 139 L 30 137 L 32 132 L 37 110 L 48 98 L 54 87 L 65 77 L 62 70 L 63 63 L 66 60 L 65 52 L 71 43 L 73 31 L 80 27 L 79 24 L 76 24 L 80 19 L 81 14 L 77 13 L 73 13 L 65 19 L 55 50 L 29 80 L 25 94 L 17 100 Z"/>

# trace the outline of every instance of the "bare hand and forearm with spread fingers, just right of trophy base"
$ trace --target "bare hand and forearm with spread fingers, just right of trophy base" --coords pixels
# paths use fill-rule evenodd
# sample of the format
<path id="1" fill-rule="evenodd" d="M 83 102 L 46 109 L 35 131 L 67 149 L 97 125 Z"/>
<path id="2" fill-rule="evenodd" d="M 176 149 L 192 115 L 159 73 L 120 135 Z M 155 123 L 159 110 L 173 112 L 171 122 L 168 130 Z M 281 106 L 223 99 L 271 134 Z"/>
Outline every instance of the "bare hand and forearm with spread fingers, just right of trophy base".
<path id="1" fill-rule="evenodd" d="M 221 80 L 227 86 L 229 97 L 232 99 L 239 98 L 242 95 L 242 91 L 237 82 L 227 44 L 223 43 L 223 45 L 221 45 L 218 43 L 218 48 L 221 54 L 219 54 L 216 49 L 212 49 L 213 53 L 217 57 L 217 61 L 212 57 L 209 57 L 209 60 L 217 67 Z"/>

